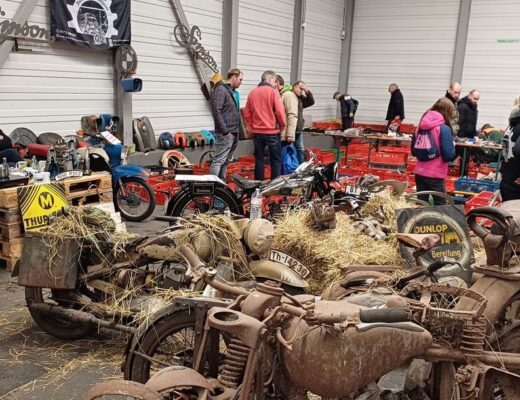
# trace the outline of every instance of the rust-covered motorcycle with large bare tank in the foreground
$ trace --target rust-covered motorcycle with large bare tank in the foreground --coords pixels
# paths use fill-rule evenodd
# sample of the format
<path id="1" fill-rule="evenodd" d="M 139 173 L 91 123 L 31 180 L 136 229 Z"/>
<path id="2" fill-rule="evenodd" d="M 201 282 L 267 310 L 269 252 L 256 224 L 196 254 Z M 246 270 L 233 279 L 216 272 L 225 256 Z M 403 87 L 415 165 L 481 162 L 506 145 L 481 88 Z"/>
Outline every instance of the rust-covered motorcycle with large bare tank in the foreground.
<path id="1" fill-rule="evenodd" d="M 507 370 L 520 367 L 520 355 L 484 350 L 487 300 L 481 294 L 412 282 L 401 296 L 389 296 L 385 308 L 370 309 L 349 298 L 293 297 L 270 282 L 249 292 L 217 279 L 188 246 L 181 251 L 195 274 L 235 297 L 207 312 L 193 369 L 171 366 L 146 384 L 103 382 L 89 391 L 88 400 L 111 394 L 307 400 L 309 392 L 327 399 L 366 399 L 373 382 L 413 359 L 431 361 L 433 367 L 409 377 L 413 389 L 407 398 L 520 399 L 520 376 Z M 442 306 L 436 302 L 439 293 L 471 299 L 474 306 Z M 383 396 L 373 392 L 370 398 L 389 398 Z"/>

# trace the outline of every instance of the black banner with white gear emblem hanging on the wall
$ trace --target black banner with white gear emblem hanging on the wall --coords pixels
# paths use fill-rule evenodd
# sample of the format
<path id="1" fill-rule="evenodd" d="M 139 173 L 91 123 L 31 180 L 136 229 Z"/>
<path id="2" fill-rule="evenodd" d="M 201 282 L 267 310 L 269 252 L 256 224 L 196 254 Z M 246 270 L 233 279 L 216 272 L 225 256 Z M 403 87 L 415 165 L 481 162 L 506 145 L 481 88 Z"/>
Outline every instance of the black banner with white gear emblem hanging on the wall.
<path id="1" fill-rule="evenodd" d="M 51 0 L 51 35 L 108 49 L 130 43 L 130 0 Z"/>

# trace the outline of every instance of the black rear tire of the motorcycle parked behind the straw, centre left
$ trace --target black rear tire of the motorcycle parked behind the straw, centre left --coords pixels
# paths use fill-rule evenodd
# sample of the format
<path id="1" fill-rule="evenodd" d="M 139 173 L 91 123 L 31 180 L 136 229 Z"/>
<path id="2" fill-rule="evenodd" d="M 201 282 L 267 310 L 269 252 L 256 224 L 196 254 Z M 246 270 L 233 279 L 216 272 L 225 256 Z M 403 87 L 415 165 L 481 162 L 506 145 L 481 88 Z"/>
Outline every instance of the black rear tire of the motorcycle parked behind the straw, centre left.
<path id="1" fill-rule="evenodd" d="M 182 189 L 181 192 L 179 192 L 172 200 L 174 203 L 169 207 L 171 211 L 168 215 L 172 217 L 186 217 L 190 214 L 188 212 L 190 204 L 196 207 L 192 210 L 193 213 L 208 212 L 213 207 L 212 205 L 207 205 L 205 202 L 200 202 L 203 198 L 211 199 L 213 205 L 215 199 L 218 199 L 223 203 L 223 205 L 229 208 L 229 211 L 231 211 L 232 214 L 242 215 L 242 210 L 230 194 L 230 191 L 222 187 L 216 187 L 213 195 L 192 195 L 188 188 Z M 199 200 L 199 202 L 197 202 L 197 200 Z M 205 207 L 207 207 L 207 209 Z M 224 209 L 222 209 L 222 211 L 224 211 Z"/>

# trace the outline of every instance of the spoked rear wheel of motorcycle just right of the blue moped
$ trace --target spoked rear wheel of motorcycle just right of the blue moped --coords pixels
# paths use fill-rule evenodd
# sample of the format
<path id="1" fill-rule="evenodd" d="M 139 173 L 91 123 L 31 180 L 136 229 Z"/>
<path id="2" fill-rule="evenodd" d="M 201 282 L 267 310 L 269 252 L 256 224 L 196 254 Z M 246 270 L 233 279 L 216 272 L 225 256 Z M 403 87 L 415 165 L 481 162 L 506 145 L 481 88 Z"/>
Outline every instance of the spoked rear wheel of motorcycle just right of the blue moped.
<path id="1" fill-rule="evenodd" d="M 193 195 L 189 190 L 185 190 L 176 197 L 170 215 L 185 218 L 210 211 L 223 213 L 226 209 L 233 214 L 242 214 L 235 199 L 223 188 L 216 187 L 212 195 Z"/>

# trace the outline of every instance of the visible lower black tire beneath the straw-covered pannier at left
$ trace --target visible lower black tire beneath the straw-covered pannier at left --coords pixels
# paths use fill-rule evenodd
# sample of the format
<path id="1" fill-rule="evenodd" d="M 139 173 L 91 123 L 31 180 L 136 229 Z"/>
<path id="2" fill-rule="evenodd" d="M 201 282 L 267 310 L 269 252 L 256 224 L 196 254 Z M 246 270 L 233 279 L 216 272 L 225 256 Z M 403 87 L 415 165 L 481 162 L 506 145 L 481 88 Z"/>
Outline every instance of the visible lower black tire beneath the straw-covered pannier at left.
<path id="1" fill-rule="evenodd" d="M 94 327 L 79 322 L 71 322 L 63 320 L 51 315 L 42 314 L 32 309 L 31 305 L 34 303 L 50 303 L 51 300 L 45 298 L 42 288 L 25 288 L 25 302 L 31 313 L 31 317 L 46 333 L 54 337 L 66 340 L 77 340 L 88 337 L 94 331 Z M 51 289 L 45 289 L 51 290 Z M 72 308 L 70 302 L 60 300 L 60 295 L 66 295 L 66 290 L 52 290 L 52 304 L 60 305 L 62 307 Z"/>

